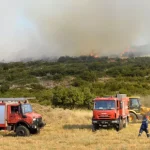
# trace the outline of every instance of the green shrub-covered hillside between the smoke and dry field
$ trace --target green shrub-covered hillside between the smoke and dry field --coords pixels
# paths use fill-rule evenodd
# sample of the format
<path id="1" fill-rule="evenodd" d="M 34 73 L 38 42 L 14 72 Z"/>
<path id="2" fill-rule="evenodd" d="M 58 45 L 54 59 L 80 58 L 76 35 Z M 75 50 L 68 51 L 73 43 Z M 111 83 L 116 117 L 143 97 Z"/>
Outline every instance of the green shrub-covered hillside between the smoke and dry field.
<path id="1" fill-rule="evenodd" d="M 57 62 L 0 63 L 0 97 L 35 96 L 36 102 L 90 108 L 96 96 L 150 93 L 150 57 L 60 57 Z"/>

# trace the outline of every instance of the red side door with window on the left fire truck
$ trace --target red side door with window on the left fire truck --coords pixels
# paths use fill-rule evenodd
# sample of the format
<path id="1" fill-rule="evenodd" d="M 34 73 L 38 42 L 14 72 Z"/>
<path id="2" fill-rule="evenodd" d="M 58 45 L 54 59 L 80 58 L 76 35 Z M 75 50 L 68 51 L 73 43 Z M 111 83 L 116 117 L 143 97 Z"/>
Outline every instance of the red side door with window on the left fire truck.
<path id="1" fill-rule="evenodd" d="M 9 110 L 8 113 L 9 123 L 16 123 L 21 119 L 19 106 L 9 106 L 8 110 Z"/>

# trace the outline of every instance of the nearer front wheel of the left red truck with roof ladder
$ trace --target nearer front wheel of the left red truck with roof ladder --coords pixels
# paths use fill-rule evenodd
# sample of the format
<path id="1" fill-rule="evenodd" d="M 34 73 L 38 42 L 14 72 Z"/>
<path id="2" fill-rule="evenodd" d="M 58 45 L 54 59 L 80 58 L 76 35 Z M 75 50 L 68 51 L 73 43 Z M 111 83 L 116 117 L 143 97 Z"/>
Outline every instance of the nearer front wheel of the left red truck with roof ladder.
<path id="1" fill-rule="evenodd" d="M 29 129 L 25 126 L 18 126 L 16 129 L 17 136 L 29 136 L 30 132 Z"/>

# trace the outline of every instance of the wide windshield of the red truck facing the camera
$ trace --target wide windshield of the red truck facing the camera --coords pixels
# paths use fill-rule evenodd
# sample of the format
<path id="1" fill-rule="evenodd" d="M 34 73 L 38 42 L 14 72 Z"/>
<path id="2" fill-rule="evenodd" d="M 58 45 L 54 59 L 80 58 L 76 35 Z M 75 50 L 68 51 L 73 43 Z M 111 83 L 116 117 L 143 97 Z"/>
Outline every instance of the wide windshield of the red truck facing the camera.
<path id="1" fill-rule="evenodd" d="M 94 109 L 101 109 L 101 110 L 115 109 L 115 101 L 114 100 L 95 101 Z"/>

